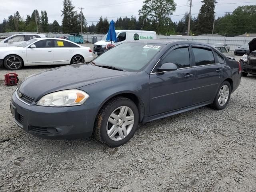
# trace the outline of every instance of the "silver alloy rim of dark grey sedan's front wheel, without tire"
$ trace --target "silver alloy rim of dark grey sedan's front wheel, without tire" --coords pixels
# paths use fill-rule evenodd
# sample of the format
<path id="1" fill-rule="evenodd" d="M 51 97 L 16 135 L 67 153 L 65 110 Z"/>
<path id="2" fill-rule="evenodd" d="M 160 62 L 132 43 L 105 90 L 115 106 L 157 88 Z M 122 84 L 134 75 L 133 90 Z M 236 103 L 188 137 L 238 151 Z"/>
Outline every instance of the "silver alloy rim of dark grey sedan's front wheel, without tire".
<path id="1" fill-rule="evenodd" d="M 121 106 L 115 109 L 106 126 L 108 137 L 114 141 L 124 139 L 131 132 L 134 124 L 134 114 L 130 107 Z"/>

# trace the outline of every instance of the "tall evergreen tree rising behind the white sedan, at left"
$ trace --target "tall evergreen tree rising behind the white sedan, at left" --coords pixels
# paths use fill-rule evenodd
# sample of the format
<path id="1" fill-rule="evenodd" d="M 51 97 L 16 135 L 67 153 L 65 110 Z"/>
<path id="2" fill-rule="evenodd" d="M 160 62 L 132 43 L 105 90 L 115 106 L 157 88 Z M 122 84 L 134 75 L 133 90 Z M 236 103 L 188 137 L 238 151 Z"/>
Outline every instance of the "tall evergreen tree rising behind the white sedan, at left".
<path id="1" fill-rule="evenodd" d="M 62 30 L 64 33 L 79 32 L 78 14 L 74 11 L 75 6 L 72 5 L 71 0 L 63 1 L 62 15 Z"/>

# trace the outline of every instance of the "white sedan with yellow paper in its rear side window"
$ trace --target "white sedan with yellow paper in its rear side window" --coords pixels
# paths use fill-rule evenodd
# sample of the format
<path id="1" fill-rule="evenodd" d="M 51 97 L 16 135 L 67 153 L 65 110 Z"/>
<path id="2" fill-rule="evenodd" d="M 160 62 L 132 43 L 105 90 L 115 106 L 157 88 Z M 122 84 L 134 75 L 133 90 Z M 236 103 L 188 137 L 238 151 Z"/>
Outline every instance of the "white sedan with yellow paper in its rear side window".
<path id="1" fill-rule="evenodd" d="M 0 65 L 19 70 L 33 65 L 78 64 L 92 60 L 92 50 L 59 38 L 35 38 L 14 47 L 0 48 Z"/>

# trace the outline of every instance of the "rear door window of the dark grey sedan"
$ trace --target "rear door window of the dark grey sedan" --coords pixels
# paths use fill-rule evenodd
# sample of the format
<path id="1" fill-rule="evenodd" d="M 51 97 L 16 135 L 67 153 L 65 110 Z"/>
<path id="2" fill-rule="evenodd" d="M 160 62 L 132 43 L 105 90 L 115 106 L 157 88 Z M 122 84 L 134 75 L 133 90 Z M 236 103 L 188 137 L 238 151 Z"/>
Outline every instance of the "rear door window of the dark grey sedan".
<path id="1" fill-rule="evenodd" d="M 195 56 L 196 66 L 215 63 L 212 50 L 201 47 L 192 47 L 192 50 Z"/>

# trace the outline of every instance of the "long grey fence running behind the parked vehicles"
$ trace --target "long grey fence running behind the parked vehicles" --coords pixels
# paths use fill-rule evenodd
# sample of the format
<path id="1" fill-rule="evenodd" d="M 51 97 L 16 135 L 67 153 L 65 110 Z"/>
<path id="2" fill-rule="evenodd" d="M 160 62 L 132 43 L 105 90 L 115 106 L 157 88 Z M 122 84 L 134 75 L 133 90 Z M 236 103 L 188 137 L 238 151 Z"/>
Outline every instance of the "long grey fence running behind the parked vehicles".
<path id="1" fill-rule="evenodd" d="M 13 34 L 18 34 L 19 32 L 8 32 L 8 33 L 0 33 L 0 36 L 6 37 Z M 23 32 L 25 33 L 25 32 Z M 29 32 L 31 33 L 31 32 Z M 48 35 L 48 37 L 68 37 L 70 34 L 64 33 L 42 33 Z M 104 34 L 83 34 L 84 42 L 92 42 L 92 36 L 97 36 L 98 41 L 102 40 Z M 215 43 L 223 43 L 230 46 L 230 51 L 234 51 L 238 46 L 248 44 L 254 37 L 225 37 L 225 36 L 182 36 L 182 35 L 157 35 L 158 40 L 190 40 L 195 42 L 202 42 L 206 44 L 215 44 Z"/>

